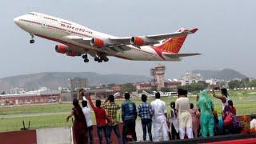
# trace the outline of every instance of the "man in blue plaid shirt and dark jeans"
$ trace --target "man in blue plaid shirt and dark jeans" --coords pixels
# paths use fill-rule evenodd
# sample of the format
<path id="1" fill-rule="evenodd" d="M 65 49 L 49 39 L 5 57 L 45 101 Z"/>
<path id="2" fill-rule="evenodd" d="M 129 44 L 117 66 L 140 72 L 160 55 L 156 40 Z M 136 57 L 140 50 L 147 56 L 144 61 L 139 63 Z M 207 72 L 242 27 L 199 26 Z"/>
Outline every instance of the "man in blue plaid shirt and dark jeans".
<path id="1" fill-rule="evenodd" d="M 149 103 L 146 102 L 146 94 L 142 94 L 142 103 L 138 106 L 138 116 L 142 119 L 143 141 L 146 141 L 146 127 L 152 141 L 152 109 Z"/>

